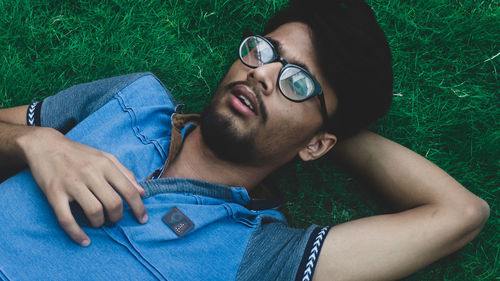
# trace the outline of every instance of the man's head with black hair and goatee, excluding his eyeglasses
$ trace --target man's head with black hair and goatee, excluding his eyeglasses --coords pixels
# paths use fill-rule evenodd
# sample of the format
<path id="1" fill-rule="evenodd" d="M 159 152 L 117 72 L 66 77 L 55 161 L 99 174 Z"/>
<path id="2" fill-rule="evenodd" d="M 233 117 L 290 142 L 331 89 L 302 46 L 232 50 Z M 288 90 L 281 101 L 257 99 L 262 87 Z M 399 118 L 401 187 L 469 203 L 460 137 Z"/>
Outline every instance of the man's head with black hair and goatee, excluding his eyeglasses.
<path id="1" fill-rule="evenodd" d="M 356 17 L 346 19 L 341 11 L 337 11 L 346 8 L 332 7 L 331 1 L 324 2 L 326 8 L 336 10 L 325 12 L 325 7 L 314 4 L 314 7 L 305 9 L 302 3 L 292 1 L 289 8 L 269 22 L 264 34 L 275 45 L 279 56 L 288 63 L 303 67 L 319 82 L 330 117 L 328 131 L 321 114 L 321 99 L 312 96 L 302 102 L 293 102 L 280 89 L 278 78 L 283 62 L 277 60 L 252 68 L 238 60 L 224 77 L 202 119 L 204 140 L 218 156 L 256 165 L 262 161 L 276 161 L 278 166 L 296 155 L 313 160 L 333 147 L 337 137 L 347 137 L 385 113 L 392 96 L 391 89 L 379 89 L 381 78 L 374 67 L 381 58 L 372 50 L 387 49 L 387 62 L 384 63 L 390 69 L 390 53 L 383 33 L 379 30 L 381 42 L 373 40 L 370 32 L 364 33 L 367 28 L 356 28 L 352 24 Z M 316 9 L 322 12 L 318 13 Z M 363 9 L 369 10 L 368 6 Z M 371 10 L 365 10 L 358 14 L 372 17 L 372 24 L 376 25 Z M 329 19 L 330 14 L 339 19 Z M 363 22 L 367 21 L 364 19 Z M 382 46 L 377 46 L 374 41 Z M 369 49 L 368 54 L 358 53 L 364 49 Z M 370 54 L 377 58 L 370 57 Z M 382 63 L 384 71 L 386 65 Z M 357 69 L 359 67 L 361 69 Z M 389 72 L 392 87 L 392 72 Z M 350 83 L 352 85 L 347 85 Z M 372 85 L 360 85 L 364 83 Z M 373 89 L 376 93 L 372 93 Z M 382 102 L 375 102 L 375 96 Z M 367 109 L 370 106 L 376 109 Z"/>

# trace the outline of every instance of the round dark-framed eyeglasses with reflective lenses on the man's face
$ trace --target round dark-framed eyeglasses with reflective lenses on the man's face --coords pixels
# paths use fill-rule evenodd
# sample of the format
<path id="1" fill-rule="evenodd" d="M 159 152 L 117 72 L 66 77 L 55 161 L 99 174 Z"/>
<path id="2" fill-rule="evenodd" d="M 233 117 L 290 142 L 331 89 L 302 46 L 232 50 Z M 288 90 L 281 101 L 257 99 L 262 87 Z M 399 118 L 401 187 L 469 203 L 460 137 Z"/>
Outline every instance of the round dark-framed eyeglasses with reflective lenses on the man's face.
<path id="1" fill-rule="evenodd" d="M 243 39 L 238 51 L 241 62 L 251 68 L 281 62 L 283 67 L 278 75 L 278 87 L 281 94 L 293 102 L 303 102 L 313 96 L 318 96 L 321 103 L 323 126 L 325 129 L 328 128 L 328 114 L 323 90 L 309 71 L 298 65 L 288 63 L 278 54 L 269 40 L 259 35 L 252 35 Z"/>

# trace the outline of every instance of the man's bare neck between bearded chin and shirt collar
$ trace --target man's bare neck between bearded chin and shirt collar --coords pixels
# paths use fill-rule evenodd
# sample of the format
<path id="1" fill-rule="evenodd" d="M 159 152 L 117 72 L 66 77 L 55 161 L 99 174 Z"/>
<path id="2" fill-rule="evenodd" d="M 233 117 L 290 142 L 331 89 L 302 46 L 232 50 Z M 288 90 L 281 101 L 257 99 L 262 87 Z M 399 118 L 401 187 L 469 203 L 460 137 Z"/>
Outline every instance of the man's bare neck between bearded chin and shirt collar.
<path id="1" fill-rule="evenodd" d="M 200 127 L 185 137 L 181 151 L 162 178 L 193 178 L 252 190 L 276 167 L 239 165 L 217 157 L 204 143 Z"/>

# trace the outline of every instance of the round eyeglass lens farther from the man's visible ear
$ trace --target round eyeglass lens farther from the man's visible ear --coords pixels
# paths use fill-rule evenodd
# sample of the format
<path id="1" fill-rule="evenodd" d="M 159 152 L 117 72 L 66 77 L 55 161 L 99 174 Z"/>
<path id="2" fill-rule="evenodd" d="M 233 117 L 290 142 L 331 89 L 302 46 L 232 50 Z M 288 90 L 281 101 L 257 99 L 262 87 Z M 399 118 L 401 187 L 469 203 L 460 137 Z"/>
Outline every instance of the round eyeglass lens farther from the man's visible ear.
<path id="1" fill-rule="evenodd" d="M 259 37 L 248 37 L 240 46 L 241 59 L 249 66 L 258 67 L 274 59 L 274 50 Z"/>

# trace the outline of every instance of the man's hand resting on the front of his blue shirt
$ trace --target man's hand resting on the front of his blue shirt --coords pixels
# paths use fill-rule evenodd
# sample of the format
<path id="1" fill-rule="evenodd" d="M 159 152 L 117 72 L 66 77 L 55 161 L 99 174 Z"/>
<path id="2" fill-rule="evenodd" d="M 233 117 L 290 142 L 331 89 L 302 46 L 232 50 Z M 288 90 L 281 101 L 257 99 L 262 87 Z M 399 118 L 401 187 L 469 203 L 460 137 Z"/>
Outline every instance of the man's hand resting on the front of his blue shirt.
<path id="1" fill-rule="evenodd" d="M 90 244 L 89 237 L 76 223 L 69 203 L 75 200 L 93 227 L 107 219 L 122 218 L 123 201 L 140 223 L 148 216 L 140 195 L 144 190 L 135 176 L 113 155 L 74 142 L 50 128 L 30 128 L 30 134 L 19 137 L 35 181 L 54 209 L 59 224 L 81 246 Z"/>

